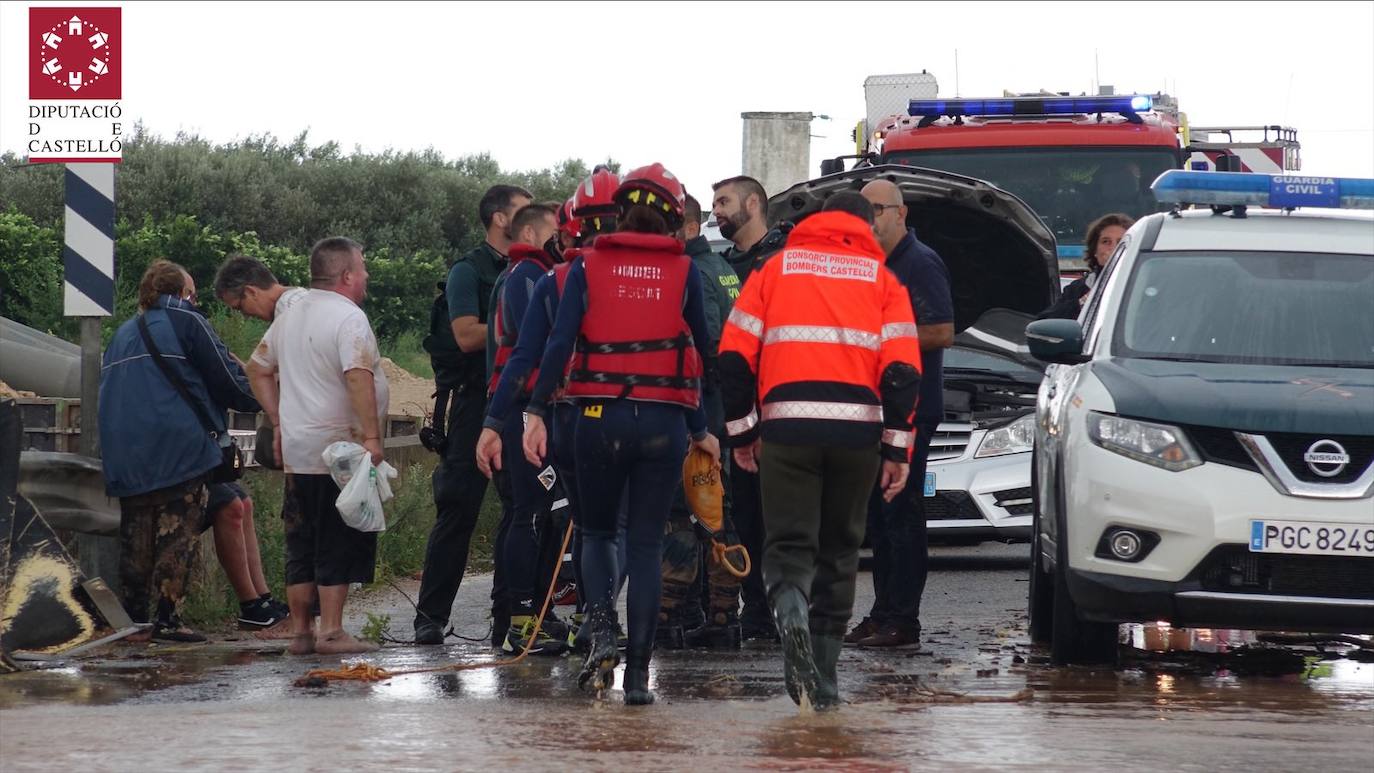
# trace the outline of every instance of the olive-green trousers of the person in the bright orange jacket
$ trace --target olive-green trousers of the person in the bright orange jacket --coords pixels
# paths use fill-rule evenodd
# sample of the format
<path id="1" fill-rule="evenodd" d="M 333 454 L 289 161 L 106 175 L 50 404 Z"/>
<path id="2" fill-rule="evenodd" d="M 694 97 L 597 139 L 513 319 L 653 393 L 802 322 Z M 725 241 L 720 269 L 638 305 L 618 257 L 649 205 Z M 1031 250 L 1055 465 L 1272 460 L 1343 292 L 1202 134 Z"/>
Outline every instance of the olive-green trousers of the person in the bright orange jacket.
<path id="1" fill-rule="evenodd" d="M 868 493 L 881 467 L 878 445 L 851 449 L 764 441 L 763 575 L 769 597 L 800 589 L 813 636 L 844 636 L 855 601 Z"/>

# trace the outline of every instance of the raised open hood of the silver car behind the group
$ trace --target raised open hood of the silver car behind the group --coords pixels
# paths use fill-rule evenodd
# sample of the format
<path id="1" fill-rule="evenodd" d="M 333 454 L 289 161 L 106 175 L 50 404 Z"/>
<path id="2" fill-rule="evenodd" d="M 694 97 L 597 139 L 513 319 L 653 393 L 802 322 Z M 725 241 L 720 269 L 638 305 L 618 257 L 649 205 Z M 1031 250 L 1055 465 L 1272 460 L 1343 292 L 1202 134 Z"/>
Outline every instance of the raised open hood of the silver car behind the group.
<path id="1" fill-rule="evenodd" d="M 833 194 L 890 180 L 907 203 L 907 225 L 949 269 L 955 332 L 989 309 L 1039 314 L 1059 297 L 1054 235 L 1013 194 L 973 177 L 934 169 L 882 165 L 827 174 L 768 199 L 768 221 L 800 222 Z M 1025 335 L 1020 336 L 1025 345 Z"/>

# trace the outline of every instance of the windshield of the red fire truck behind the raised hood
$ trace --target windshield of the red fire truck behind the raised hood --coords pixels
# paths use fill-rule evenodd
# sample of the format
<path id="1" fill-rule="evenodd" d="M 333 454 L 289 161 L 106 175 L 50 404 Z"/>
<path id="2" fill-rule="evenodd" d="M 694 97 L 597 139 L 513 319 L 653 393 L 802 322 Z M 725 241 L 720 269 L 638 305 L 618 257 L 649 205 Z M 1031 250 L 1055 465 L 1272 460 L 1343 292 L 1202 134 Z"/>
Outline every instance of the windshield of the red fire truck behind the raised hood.
<path id="1" fill-rule="evenodd" d="M 987 180 L 1021 196 L 1059 244 L 1081 244 L 1088 224 L 1121 211 L 1140 218 L 1167 209 L 1150 183 L 1178 166 L 1167 148 L 940 148 L 893 151 L 885 161 Z"/>

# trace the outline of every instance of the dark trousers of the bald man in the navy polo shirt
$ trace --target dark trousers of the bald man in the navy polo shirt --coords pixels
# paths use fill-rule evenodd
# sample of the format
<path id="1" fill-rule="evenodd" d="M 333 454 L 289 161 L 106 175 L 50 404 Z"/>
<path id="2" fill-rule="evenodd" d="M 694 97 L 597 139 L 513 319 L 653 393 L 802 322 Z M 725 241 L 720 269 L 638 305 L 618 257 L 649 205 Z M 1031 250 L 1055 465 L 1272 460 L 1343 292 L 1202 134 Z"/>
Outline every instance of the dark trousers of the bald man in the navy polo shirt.
<path id="1" fill-rule="evenodd" d="M 926 590 L 929 538 L 925 497 L 926 460 L 938 422 L 916 424 L 907 487 L 890 503 L 874 486 L 868 498 L 868 544 L 872 546 L 872 610 L 878 625 L 894 625 L 912 636 L 921 633 L 921 596 Z"/>

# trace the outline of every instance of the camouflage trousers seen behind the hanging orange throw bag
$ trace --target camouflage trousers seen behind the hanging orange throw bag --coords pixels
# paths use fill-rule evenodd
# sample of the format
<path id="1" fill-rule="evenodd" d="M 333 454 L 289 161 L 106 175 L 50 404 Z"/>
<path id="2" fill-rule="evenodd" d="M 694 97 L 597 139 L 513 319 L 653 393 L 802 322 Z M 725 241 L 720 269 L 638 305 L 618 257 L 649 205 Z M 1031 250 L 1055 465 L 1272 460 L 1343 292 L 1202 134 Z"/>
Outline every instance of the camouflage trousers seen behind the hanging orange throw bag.
<path id="1" fill-rule="evenodd" d="M 721 531 L 723 542 L 727 545 L 739 544 L 728 520 Z M 684 511 L 673 508 L 664 534 L 661 611 L 666 619 L 675 619 L 684 625 L 702 619 L 698 579 L 703 560 L 709 588 L 706 622 L 710 625 L 731 623 L 739 616 L 741 581 L 710 555 L 710 538 L 703 535 Z"/>

